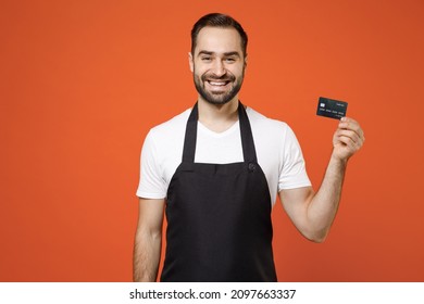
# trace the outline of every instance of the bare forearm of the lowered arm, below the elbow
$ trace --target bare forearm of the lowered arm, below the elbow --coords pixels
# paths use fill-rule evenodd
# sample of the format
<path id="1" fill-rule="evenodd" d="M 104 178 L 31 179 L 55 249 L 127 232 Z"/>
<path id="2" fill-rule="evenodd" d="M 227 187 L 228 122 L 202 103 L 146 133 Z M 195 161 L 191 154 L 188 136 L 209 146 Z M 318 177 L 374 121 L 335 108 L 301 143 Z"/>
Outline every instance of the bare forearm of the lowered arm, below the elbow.
<path id="1" fill-rule="evenodd" d="M 160 233 L 137 230 L 134 245 L 133 279 L 136 282 L 154 282 L 161 257 Z"/>

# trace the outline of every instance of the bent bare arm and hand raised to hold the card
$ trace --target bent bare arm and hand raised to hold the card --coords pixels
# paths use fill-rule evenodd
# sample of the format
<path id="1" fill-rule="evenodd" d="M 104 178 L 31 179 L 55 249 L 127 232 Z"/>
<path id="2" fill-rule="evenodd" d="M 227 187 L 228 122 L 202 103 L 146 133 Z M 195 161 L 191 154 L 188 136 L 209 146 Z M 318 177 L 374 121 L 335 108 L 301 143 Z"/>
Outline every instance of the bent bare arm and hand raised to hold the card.
<path id="1" fill-rule="evenodd" d="M 337 213 L 348 160 L 365 138 L 360 125 L 342 118 L 333 137 L 333 153 L 320 190 L 312 187 L 282 190 L 279 198 L 296 228 L 308 239 L 322 242 Z"/>

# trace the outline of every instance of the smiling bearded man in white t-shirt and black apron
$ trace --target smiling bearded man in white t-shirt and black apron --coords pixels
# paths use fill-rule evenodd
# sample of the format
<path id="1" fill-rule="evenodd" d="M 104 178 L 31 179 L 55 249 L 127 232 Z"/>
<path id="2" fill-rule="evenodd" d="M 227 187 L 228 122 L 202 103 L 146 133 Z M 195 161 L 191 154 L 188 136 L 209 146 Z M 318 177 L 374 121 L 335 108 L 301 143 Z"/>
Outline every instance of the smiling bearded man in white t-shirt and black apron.
<path id="1" fill-rule="evenodd" d="M 134 280 L 276 281 L 272 205 L 278 193 L 297 229 L 322 242 L 337 212 L 347 162 L 363 131 L 342 118 L 315 193 L 291 129 L 238 100 L 247 35 L 232 17 L 209 14 L 191 30 L 192 110 L 151 129 L 141 152 Z"/>

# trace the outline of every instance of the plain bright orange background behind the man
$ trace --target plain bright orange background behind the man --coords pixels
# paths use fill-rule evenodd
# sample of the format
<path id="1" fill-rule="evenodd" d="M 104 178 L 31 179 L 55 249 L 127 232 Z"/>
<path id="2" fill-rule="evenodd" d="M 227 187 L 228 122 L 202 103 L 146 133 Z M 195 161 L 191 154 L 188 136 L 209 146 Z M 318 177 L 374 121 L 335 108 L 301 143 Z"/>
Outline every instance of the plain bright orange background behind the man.
<path id="1" fill-rule="evenodd" d="M 349 102 L 366 142 L 323 244 L 277 202 L 282 281 L 423 281 L 424 2 L 0 2 L 0 281 L 130 281 L 139 154 L 196 100 L 189 30 L 209 12 L 248 31 L 241 100 L 287 122 L 317 189 Z"/>

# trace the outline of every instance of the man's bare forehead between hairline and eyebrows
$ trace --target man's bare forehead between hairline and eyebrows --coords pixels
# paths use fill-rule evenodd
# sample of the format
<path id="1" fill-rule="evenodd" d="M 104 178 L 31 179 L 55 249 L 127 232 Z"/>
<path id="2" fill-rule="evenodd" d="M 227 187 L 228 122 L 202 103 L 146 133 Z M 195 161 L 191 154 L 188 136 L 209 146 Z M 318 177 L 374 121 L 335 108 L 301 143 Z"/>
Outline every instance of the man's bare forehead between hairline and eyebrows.
<path id="1" fill-rule="evenodd" d="M 195 54 L 199 53 L 199 51 L 214 53 L 238 52 L 242 54 L 241 37 L 233 27 L 207 26 L 200 29 L 197 36 Z"/>

